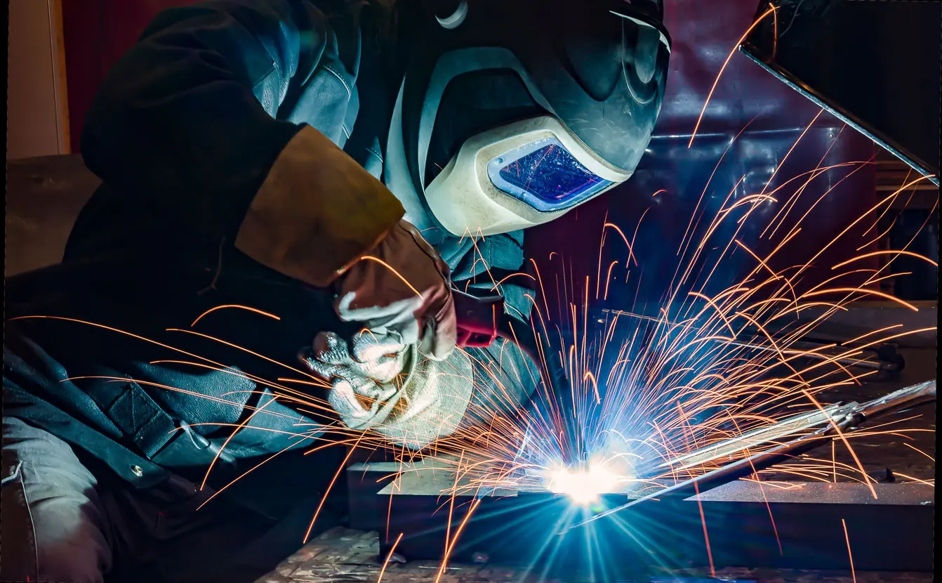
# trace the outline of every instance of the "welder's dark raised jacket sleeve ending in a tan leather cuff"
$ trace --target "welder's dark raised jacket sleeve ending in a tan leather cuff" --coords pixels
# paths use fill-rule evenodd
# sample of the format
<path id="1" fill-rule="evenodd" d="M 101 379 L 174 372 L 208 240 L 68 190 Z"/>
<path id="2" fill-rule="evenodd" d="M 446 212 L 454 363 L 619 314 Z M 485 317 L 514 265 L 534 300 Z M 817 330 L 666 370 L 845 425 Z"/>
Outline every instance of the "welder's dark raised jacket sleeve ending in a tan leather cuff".
<path id="1" fill-rule="evenodd" d="M 323 287 L 402 217 L 381 182 L 309 125 L 277 119 L 331 34 L 309 0 L 160 13 L 86 118 L 89 169 L 138 208 Z M 327 252 L 329 250 L 329 252 Z"/>

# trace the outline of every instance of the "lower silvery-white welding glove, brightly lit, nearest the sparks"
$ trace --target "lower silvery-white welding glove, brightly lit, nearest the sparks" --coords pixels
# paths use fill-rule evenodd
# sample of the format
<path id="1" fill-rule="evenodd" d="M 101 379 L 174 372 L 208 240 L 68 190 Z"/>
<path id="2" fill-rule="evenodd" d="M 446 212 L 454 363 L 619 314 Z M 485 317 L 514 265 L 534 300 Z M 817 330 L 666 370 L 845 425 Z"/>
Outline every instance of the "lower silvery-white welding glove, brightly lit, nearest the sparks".
<path id="1" fill-rule="evenodd" d="M 467 355 L 425 358 L 396 330 L 350 341 L 321 332 L 301 360 L 331 383 L 328 402 L 344 425 L 414 449 L 453 433 L 471 399 Z"/>

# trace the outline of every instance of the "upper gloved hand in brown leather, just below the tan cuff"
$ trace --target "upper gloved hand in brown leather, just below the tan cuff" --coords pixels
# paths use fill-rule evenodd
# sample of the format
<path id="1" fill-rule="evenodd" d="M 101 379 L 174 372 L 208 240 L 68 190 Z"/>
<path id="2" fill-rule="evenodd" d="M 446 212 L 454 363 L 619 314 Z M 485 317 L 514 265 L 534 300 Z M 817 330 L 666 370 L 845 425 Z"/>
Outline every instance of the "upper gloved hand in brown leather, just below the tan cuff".
<path id="1" fill-rule="evenodd" d="M 418 343 L 423 355 L 442 360 L 455 347 L 449 275 L 418 230 L 400 221 L 334 283 L 334 309 L 344 322 L 379 336 L 396 333 L 402 345 Z"/>

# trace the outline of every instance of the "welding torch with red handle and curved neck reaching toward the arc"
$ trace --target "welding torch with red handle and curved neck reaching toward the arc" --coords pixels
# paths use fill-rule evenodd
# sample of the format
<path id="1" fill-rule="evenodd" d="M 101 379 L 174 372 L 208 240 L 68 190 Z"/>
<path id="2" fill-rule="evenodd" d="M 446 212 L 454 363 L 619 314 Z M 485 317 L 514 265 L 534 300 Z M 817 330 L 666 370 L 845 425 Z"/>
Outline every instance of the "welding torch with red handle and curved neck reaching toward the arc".
<path id="1" fill-rule="evenodd" d="M 503 296 L 477 297 L 452 288 L 455 317 L 458 324 L 457 344 L 462 348 L 486 348 L 497 337 L 518 346 L 539 367 L 540 374 L 549 388 L 550 398 L 555 400 L 562 426 L 560 427 L 560 449 L 562 461 L 567 467 L 583 465 L 586 454 L 578 439 L 573 385 L 558 363 L 556 356 L 563 351 L 553 340 L 536 333 L 531 325 L 513 326 L 512 317 L 504 311 Z M 522 323 L 521 323 L 522 324 Z M 533 397 L 530 406 L 536 406 Z M 552 412 L 545 415 L 554 417 Z M 548 420 L 547 420 L 548 421 Z"/>

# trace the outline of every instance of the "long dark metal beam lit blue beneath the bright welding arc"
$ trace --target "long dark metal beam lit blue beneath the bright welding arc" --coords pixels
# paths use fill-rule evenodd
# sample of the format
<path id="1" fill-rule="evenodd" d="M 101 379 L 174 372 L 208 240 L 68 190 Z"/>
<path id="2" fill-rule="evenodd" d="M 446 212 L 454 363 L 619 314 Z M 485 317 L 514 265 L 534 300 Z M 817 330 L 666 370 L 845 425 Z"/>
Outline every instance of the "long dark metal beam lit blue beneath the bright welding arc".
<path id="1" fill-rule="evenodd" d="M 872 489 L 872 490 L 871 490 Z M 874 497 L 874 492 L 876 497 Z M 625 494 L 603 496 L 616 506 Z M 450 508 L 440 495 L 397 492 L 389 500 L 383 552 L 402 533 L 403 558 L 486 555 L 551 576 L 615 580 L 649 567 L 732 566 L 858 571 L 933 569 L 934 489 L 921 484 L 736 481 L 686 498 L 630 508 L 616 520 L 557 534 L 586 512 L 549 493 L 486 496 L 465 522 L 471 497 Z M 845 535 L 844 528 L 847 528 Z M 383 532 L 392 540 L 382 541 Z M 708 541 L 708 542 L 707 542 Z M 617 560 L 613 559 L 617 558 Z M 586 575 L 590 575 L 587 577 Z"/>

